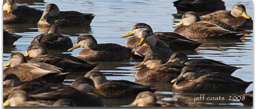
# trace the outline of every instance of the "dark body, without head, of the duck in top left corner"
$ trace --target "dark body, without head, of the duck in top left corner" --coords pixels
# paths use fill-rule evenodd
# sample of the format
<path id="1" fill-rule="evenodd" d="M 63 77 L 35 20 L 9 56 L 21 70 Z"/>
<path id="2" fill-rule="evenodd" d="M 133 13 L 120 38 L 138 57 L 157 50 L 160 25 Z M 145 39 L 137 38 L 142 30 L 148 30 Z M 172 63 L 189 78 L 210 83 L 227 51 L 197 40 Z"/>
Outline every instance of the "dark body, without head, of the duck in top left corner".
<path id="1" fill-rule="evenodd" d="M 27 6 L 17 6 L 17 9 L 12 13 L 8 13 L 7 11 L 3 12 L 3 21 L 4 24 L 38 22 L 42 13 L 42 10 L 33 9 Z"/>

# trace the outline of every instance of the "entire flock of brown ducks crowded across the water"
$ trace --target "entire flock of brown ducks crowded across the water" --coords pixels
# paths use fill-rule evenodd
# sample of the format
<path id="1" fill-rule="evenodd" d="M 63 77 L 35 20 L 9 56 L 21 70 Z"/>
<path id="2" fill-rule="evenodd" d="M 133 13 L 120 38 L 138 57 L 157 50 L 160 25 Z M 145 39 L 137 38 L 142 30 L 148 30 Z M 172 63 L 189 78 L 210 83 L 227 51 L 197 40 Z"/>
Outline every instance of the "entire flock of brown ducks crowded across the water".
<path id="1" fill-rule="evenodd" d="M 252 82 L 233 77 L 240 67 L 211 59 L 188 59 L 177 50 L 195 50 L 202 43 L 194 39 L 242 39 L 252 27 L 252 18 L 244 4 L 234 4 L 225 10 L 222 0 L 178 0 L 178 12 L 184 13 L 175 24 L 174 32 L 153 32 L 143 22 L 134 24 L 122 37 L 126 44 L 97 44 L 90 34 L 81 34 L 73 45 L 61 34 L 61 27 L 90 27 L 94 14 L 61 11 L 57 4 L 47 4 L 45 11 L 17 6 L 15 0 L 4 4 L 4 24 L 31 23 L 48 32 L 36 36 L 24 53 L 15 52 L 4 65 L 4 107 L 103 107 L 105 98 L 135 98 L 131 107 L 175 107 L 162 102 L 154 94 L 155 86 L 127 80 L 107 80 L 97 62 L 140 59 L 136 82 L 172 83 L 174 93 L 242 92 L 237 97 L 245 106 L 252 106 L 252 92 L 244 93 Z M 197 12 L 208 12 L 204 16 Z M 4 46 L 12 45 L 22 36 L 3 30 Z M 69 54 L 49 54 L 49 50 L 69 51 L 82 47 L 76 57 Z M 94 62 L 93 64 L 91 62 Z M 95 64 L 96 63 L 96 64 Z M 71 85 L 63 85 L 72 72 L 86 72 Z"/>

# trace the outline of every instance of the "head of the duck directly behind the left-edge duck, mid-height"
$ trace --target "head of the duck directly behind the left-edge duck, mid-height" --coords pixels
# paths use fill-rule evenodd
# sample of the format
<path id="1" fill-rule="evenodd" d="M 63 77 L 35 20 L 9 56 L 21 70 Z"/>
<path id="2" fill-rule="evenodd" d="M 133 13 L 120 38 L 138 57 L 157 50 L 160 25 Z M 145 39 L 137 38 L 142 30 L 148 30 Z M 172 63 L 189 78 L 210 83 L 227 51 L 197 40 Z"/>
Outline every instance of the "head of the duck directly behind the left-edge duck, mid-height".
<path id="1" fill-rule="evenodd" d="M 48 49 L 45 45 L 42 44 L 32 44 L 27 49 L 27 52 L 24 54 L 25 57 L 37 57 L 38 55 L 46 55 L 48 54 Z"/>

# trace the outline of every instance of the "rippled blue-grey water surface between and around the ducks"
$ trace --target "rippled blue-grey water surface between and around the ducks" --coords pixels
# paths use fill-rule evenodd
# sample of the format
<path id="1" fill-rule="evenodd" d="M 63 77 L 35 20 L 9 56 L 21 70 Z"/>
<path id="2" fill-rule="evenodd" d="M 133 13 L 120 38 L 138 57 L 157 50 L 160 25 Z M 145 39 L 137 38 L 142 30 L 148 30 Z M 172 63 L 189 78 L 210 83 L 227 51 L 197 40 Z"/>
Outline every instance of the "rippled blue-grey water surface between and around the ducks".
<path id="1" fill-rule="evenodd" d="M 172 2 L 169 0 L 94 0 L 94 1 L 37 1 L 31 2 L 31 0 L 18 1 L 21 5 L 29 5 L 36 9 L 44 10 L 46 4 L 54 2 L 59 6 L 61 11 L 79 11 L 79 12 L 91 12 L 96 14 L 96 17 L 92 21 L 90 29 L 80 28 L 62 28 L 62 33 L 69 36 L 72 39 L 73 44 L 76 44 L 76 39 L 79 34 L 92 34 L 96 37 L 99 44 L 101 43 L 116 43 L 124 45 L 128 38 L 119 38 L 122 34 L 126 34 L 130 31 L 130 28 L 134 26 L 136 22 L 145 22 L 149 24 L 154 32 L 172 32 L 174 24 L 180 21 L 175 19 L 174 16 L 179 16 Z M 252 0 L 224 0 L 226 9 L 230 10 L 236 3 L 245 4 L 247 14 L 253 16 L 253 4 Z M 4 47 L 4 64 L 6 64 L 9 56 L 13 52 L 26 52 L 32 39 L 39 34 L 44 33 L 45 30 L 38 29 L 36 25 L 19 24 L 19 25 L 4 25 L 4 29 L 9 32 L 23 36 L 21 39 L 14 43 L 14 47 Z M 251 31 L 252 30 L 248 30 Z M 250 34 L 253 36 L 253 34 Z M 244 40 L 198 40 L 205 42 L 199 49 L 193 52 L 185 52 L 189 55 L 190 59 L 214 59 L 224 62 L 225 64 L 234 65 L 236 67 L 242 67 L 242 69 L 236 70 L 232 75 L 239 77 L 247 82 L 253 80 L 253 37 L 245 37 Z M 72 52 L 63 52 L 63 54 L 76 54 L 81 49 L 73 50 Z M 54 52 L 50 51 L 51 54 Z M 132 69 L 134 64 L 139 62 L 104 62 L 100 63 L 97 69 L 106 74 L 109 80 L 129 80 L 135 82 L 134 75 L 136 69 Z M 85 72 L 70 74 L 64 83 L 71 83 L 76 77 L 84 75 Z M 238 100 L 229 101 L 229 93 L 207 93 L 209 97 L 225 97 L 224 101 L 200 101 L 192 104 L 194 101 L 194 95 L 199 97 L 200 93 L 186 93 L 187 95 L 180 95 L 172 93 L 172 87 L 170 83 L 142 83 L 145 85 L 155 85 L 159 90 L 156 92 L 161 100 L 165 101 L 177 101 L 177 106 L 227 106 L 235 105 L 242 106 Z M 247 88 L 246 92 L 252 91 L 253 85 Z M 108 106 L 127 105 L 132 100 L 120 100 L 110 99 L 106 100 Z"/>

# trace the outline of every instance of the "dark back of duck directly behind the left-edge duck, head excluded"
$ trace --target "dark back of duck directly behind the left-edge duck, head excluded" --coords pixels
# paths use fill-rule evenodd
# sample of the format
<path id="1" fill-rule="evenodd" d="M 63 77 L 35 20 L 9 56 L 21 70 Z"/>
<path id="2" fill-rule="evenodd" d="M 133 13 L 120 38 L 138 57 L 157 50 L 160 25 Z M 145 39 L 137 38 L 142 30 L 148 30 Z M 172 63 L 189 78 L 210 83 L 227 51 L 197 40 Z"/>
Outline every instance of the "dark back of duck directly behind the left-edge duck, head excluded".
<path id="1" fill-rule="evenodd" d="M 86 72 L 96 67 L 96 65 L 81 64 L 81 63 L 74 62 L 72 60 L 68 60 L 62 57 L 56 57 L 54 55 L 39 55 L 34 59 L 29 60 L 29 62 L 43 62 L 46 64 L 60 67 L 64 69 L 64 71 L 72 71 L 72 72 L 79 72 L 79 71 Z"/>

